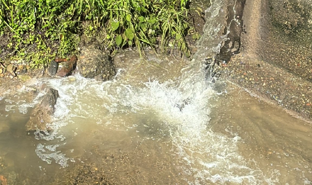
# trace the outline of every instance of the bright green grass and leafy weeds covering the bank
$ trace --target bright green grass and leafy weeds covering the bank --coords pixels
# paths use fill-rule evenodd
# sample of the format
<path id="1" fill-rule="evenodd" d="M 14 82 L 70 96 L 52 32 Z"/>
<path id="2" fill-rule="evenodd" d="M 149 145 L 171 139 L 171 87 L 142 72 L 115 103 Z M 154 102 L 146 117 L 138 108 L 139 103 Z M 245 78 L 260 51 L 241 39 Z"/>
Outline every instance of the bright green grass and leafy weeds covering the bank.
<path id="1" fill-rule="evenodd" d="M 0 37 L 9 59 L 43 67 L 55 56 L 78 53 L 80 37 L 120 48 L 177 46 L 189 55 L 188 0 L 0 0 Z M 98 37 L 101 35 L 102 37 Z M 3 43 L 0 43 L 3 44 Z M 141 54 L 141 52 L 140 52 Z"/>

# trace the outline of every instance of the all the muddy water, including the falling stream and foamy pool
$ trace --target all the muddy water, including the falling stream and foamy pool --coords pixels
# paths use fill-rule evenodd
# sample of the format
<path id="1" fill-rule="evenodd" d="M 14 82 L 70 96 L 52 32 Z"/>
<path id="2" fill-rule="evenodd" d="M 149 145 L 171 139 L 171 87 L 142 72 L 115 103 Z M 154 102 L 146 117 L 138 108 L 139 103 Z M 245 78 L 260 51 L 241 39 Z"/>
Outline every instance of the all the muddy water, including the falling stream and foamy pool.
<path id="1" fill-rule="evenodd" d="M 147 52 L 140 63 L 127 51 L 111 81 L 32 79 L 27 87 L 43 89 L 34 99 L 0 97 L 0 177 L 9 185 L 312 184 L 310 124 L 232 84 L 210 84 L 201 61 L 225 39 L 224 6 L 206 10 L 191 62 Z M 54 131 L 26 132 L 49 88 L 59 91 Z"/>

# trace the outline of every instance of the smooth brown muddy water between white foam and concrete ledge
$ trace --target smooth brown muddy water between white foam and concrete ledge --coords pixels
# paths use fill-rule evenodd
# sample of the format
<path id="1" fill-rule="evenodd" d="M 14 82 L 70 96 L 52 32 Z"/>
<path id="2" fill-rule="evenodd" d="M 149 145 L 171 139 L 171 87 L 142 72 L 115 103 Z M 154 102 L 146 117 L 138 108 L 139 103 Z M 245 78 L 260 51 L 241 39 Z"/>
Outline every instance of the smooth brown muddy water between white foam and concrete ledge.
<path id="1" fill-rule="evenodd" d="M 312 184 L 310 123 L 232 84 L 218 83 L 215 90 L 218 93 L 210 102 L 211 130 L 239 137 L 238 151 L 272 184 Z"/>

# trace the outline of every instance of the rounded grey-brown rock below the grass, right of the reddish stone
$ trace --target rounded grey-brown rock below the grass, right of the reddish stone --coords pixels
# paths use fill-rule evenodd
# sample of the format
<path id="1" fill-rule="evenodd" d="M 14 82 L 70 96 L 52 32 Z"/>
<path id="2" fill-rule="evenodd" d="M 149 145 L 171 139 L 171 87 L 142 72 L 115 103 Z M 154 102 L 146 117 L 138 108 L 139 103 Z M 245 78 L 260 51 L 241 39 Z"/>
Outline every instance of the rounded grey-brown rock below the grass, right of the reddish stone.
<path id="1" fill-rule="evenodd" d="M 110 80 L 116 74 L 111 58 L 95 45 L 82 48 L 78 70 L 83 77 L 96 80 Z"/>

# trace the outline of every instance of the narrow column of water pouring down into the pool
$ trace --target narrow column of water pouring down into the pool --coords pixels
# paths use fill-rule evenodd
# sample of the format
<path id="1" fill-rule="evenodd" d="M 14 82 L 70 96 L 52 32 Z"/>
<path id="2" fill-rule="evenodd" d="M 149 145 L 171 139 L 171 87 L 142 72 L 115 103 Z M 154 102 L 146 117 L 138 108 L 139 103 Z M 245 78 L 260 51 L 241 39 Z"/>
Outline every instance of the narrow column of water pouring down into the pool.
<path id="1" fill-rule="evenodd" d="M 205 90 L 211 83 L 211 71 L 214 66 L 205 63 L 207 58 L 214 62 L 215 56 L 220 52 L 222 42 L 226 35 L 220 34 L 226 26 L 226 0 L 215 0 L 205 10 L 206 23 L 204 34 L 197 42 L 197 52 L 190 61 L 189 66 L 183 69 L 182 82 L 179 89 L 183 92 L 182 99 L 193 99 L 198 93 Z"/>

